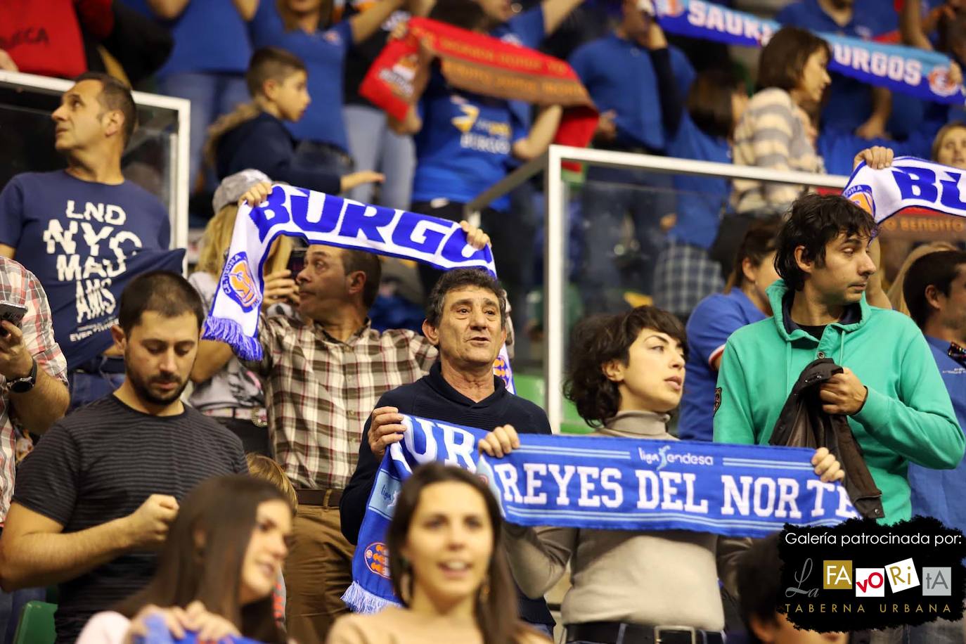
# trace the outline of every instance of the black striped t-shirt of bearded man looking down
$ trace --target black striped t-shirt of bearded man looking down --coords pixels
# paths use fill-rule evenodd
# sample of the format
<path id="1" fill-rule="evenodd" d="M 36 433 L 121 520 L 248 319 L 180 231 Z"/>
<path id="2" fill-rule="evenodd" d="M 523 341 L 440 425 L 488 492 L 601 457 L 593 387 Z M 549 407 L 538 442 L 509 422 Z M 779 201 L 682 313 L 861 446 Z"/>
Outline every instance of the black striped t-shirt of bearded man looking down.
<path id="1" fill-rule="evenodd" d="M 152 494 L 179 501 L 201 481 L 247 472 L 241 440 L 191 407 L 177 416 L 135 411 L 115 396 L 81 407 L 43 435 L 20 465 L 14 503 L 79 532 L 127 517 Z M 141 589 L 155 552 L 129 552 L 60 585 L 58 641 Z"/>

